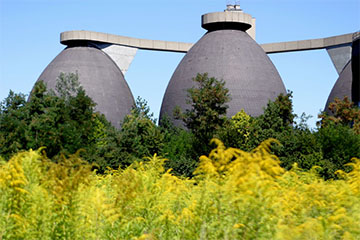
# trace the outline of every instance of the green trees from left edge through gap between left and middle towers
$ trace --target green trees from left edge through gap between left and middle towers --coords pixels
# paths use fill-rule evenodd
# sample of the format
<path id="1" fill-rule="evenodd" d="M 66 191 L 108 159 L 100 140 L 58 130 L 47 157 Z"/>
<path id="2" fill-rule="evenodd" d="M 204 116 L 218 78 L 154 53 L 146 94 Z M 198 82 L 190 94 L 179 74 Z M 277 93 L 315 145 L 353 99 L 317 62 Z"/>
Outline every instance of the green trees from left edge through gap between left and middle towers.
<path id="1" fill-rule="evenodd" d="M 55 91 L 40 81 L 29 100 L 10 91 L 0 105 L 0 156 L 45 147 L 53 161 L 83 150 L 81 156 L 104 172 L 160 152 L 163 136 L 144 100 L 115 129 L 94 110 L 77 74 L 61 74 Z"/>

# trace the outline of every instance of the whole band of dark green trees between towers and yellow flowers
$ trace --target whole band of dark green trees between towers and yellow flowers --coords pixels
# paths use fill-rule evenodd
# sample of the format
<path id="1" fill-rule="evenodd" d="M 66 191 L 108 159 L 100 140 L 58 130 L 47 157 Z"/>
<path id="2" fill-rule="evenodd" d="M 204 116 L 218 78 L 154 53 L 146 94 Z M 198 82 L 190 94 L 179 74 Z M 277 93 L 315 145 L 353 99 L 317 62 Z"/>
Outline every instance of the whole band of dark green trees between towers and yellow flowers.
<path id="1" fill-rule="evenodd" d="M 226 118 L 230 97 L 224 81 L 207 74 L 199 74 L 194 81 L 195 87 L 188 91 L 192 109 L 177 111 L 187 129 L 173 126 L 168 119 L 157 126 L 141 98 L 122 120 L 121 129 L 116 129 L 94 112 L 95 104 L 79 86 L 76 74 L 61 74 L 55 92 L 37 83 L 29 101 L 10 92 L 0 105 L 0 155 L 9 159 L 21 150 L 46 147 L 48 157 L 57 161 L 61 154 L 83 149 L 81 157 L 103 173 L 108 167 L 125 168 L 157 153 L 169 159 L 165 167 L 174 174 L 193 177 L 199 157 L 210 152 L 213 137 L 246 151 L 274 138 L 280 145 L 273 145 L 272 152 L 282 167 L 319 166 L 325 179 L 336 178 L 338 169 L 349 171 L 344 164 L 360 158 L 360 110 L 347 98 L 330 104 L 332 115 L 322 113 L 318 129 L 311 130 L 305 115 L 295 122 L 291 92 L 269 102 L 258 117 L 240 111 Z"/>

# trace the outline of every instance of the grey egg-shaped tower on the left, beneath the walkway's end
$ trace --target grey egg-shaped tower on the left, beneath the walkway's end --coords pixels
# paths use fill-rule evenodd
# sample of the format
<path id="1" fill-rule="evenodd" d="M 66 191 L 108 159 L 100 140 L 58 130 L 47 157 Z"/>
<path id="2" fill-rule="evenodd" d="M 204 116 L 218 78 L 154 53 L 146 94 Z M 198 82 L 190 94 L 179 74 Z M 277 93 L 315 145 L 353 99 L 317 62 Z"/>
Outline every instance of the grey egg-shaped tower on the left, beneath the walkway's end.
<path id="1" fill-rule="evenodd" d="M 55 57 L 38 81 L 43 80 L 49 89 L 55 89 L 62 72 L 77 73 L 80 85 L 97 104 L 96 111 L 103 113 L 113 126 L 120 127 L 134 105 L 134 98 L 121 70 L 106 53 L 86 42 L 73 43 Z"/>

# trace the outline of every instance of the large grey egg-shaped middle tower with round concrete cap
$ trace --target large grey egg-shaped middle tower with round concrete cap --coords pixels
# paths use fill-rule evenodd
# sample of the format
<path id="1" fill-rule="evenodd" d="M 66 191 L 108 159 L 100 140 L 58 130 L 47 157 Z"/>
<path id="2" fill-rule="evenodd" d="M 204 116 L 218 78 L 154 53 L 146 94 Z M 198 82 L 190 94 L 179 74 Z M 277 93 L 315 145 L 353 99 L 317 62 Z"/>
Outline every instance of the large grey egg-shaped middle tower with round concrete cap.
<path id="1" fill-rule="evenodd" d="M 188 51 L 176 68 L 165 92 L 160 121 L 173 109 L 186 104 L 187 89 L 194 86 L 192 79 L 198 73 L 223 79 L 229 89 L 231 101 L 227 115 L 241 109 L 258 116 L 269 100 L 286 93 L 275 66 L 265 51 L 245 31 L 251 27 L 252 17 L 241 11 L 210 13 L 202 16 L 202 26 L 208 32 Z"/>

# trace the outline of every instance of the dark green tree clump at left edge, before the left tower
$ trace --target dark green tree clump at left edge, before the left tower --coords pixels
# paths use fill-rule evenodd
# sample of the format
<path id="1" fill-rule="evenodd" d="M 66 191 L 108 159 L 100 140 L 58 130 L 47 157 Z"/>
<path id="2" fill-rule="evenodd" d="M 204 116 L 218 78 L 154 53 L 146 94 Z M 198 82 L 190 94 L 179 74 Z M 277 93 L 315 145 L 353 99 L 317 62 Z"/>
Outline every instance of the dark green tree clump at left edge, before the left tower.
<path id="1" fill-rule="evenodd" d="M 27 102 L 25 95 L 10 92 L 1 104 L 0 154 L 8 159 L 19 150 L 46 147 L 53 158 L 90 147 L 94 107 L 74 73 L 60 74 L 56 91 L 37 82 Z"/>

